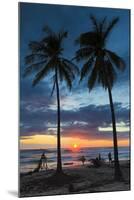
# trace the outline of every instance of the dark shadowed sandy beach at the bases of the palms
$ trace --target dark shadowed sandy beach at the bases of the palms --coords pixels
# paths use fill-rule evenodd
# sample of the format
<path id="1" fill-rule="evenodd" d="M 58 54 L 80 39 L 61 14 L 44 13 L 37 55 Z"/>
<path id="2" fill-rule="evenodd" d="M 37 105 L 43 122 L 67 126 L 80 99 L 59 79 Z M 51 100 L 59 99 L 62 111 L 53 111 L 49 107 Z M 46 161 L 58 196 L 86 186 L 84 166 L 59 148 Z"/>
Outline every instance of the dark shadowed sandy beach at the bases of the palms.
<path id="1" fill-rule="evenodd" d="M 64 168 L 67 177 L 54 177 L 55 170 L 20 175 L 20 197 L 94 193 L 130 190 L 130 166 L 121 161 L 123 181 L 114 181 L 114 168 L 108 163 Z"/>

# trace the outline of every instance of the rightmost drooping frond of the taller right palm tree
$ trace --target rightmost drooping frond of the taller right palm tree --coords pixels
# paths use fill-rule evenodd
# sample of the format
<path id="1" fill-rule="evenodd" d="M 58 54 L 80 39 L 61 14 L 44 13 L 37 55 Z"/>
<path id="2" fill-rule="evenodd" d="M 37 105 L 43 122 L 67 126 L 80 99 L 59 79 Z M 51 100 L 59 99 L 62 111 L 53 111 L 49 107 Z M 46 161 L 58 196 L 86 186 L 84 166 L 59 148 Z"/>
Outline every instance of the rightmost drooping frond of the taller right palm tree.
<path id="1" fill-rule="evenodd" d="M 106 50 L 108 58 L 111 60 L 111 62 L 115 65 L 115 67 L 119 70 L 124 70 L 126 65 L 124 60 L 119 57 L 116 53 Z"/>

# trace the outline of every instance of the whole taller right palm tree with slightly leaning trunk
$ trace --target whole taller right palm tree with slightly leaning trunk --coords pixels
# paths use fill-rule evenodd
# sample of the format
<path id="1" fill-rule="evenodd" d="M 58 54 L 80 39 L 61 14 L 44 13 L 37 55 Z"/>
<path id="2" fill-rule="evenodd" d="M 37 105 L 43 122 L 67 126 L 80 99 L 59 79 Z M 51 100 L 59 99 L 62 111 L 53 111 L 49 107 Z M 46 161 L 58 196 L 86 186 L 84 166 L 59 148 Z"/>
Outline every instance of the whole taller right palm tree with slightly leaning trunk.
<path id="1" fill-rule="evenodd" d="M 124 70 L 125 63 L 115 52 L 106 48 L 107 39 L 119 21 L 119 18 L 116 17 L 108 23 L 106 17 L 103 20 L 98 21 L 91 15 L 90 20 L 93 25 L 92 31 L 82 33 L 76 40 L 80 45 L 80 49 L 76 51 L 75 59 L 78 62 L 82 60 L 86 61 L 81 70 L 80 81 L 85 77 L 88 78 L 89 91 L 93 89 L 96 83 L 101 84 L 102 87 L 108 91 L 113 127 L 114 177 L 116 180 L 120 180 L 122 178 L 122 173 L 118 159 L 118 143 L 112 87 L 116 80 L 117 70 Z"/>

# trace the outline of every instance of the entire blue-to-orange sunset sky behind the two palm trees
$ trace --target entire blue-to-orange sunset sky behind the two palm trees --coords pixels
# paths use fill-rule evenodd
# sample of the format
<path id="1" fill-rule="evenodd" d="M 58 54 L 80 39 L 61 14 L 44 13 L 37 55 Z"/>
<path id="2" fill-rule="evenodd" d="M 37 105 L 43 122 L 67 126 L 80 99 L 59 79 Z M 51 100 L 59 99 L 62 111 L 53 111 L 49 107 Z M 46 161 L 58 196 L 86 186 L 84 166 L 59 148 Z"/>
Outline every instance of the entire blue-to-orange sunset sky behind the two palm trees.
<path id="1" fill-rule="evenodd" d="M 32 87 L 32 78 L 23 78 L 28 43 L 43 36 L 42 28 L 67 30 L 64 57 L 71 59 L 80 33 L 91 30 L 90 14 L 98 19 L 119 17 L 107 41 L 107 48 L 123 57 L 126 70 L 118 74 L 112 90 L 120 146 L 129 145 L 129 10 L 45 4 L 20 4 L 20 147 L 56 147 L 56 94 L 50 97 L 51 74 Z M 77 64 L 81 68 L 82 63 Z M 72 91 L 60 84 L 62 147 L 112 146 L 112 125 L 108 93 L 100 86 L 89 93 L 86 81 L 74 81 Z"/>

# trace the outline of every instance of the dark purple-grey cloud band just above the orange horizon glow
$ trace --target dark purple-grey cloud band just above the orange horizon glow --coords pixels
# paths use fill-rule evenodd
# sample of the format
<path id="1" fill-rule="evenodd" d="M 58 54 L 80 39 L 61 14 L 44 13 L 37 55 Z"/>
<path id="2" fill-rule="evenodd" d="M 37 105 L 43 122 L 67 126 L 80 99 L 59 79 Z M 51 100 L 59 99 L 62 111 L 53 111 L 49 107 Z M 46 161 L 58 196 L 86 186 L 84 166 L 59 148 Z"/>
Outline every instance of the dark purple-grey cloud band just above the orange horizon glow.
<path id="1" fill-rule="evenodd" d="M 124 128 L 129 127 L 129 109 L 128 107 L 122 107 L 121 103 L 115 103 L 114 107 L 118 135 L 120 138 L 128 137 L 129 130 L 124 130 Z M 44 112 L 44 110 L 38 110 L 33 113 L 26 109 L 24 113 L 25 116 L 23 116 L 21 136 L 31 136 L 37 134 L 37 132 L 41 135 L 56 135 L 56 111 L 45 110 Z M 118 128 L 120 128 L 120 130 Z M 77 111 L 62 111 L 61 134 L 63 137 L 86 139 L 111 138 L 110 106 L 108 104 L 100 106 L 89 105 L 87 107 L 82 107 Z"/>

